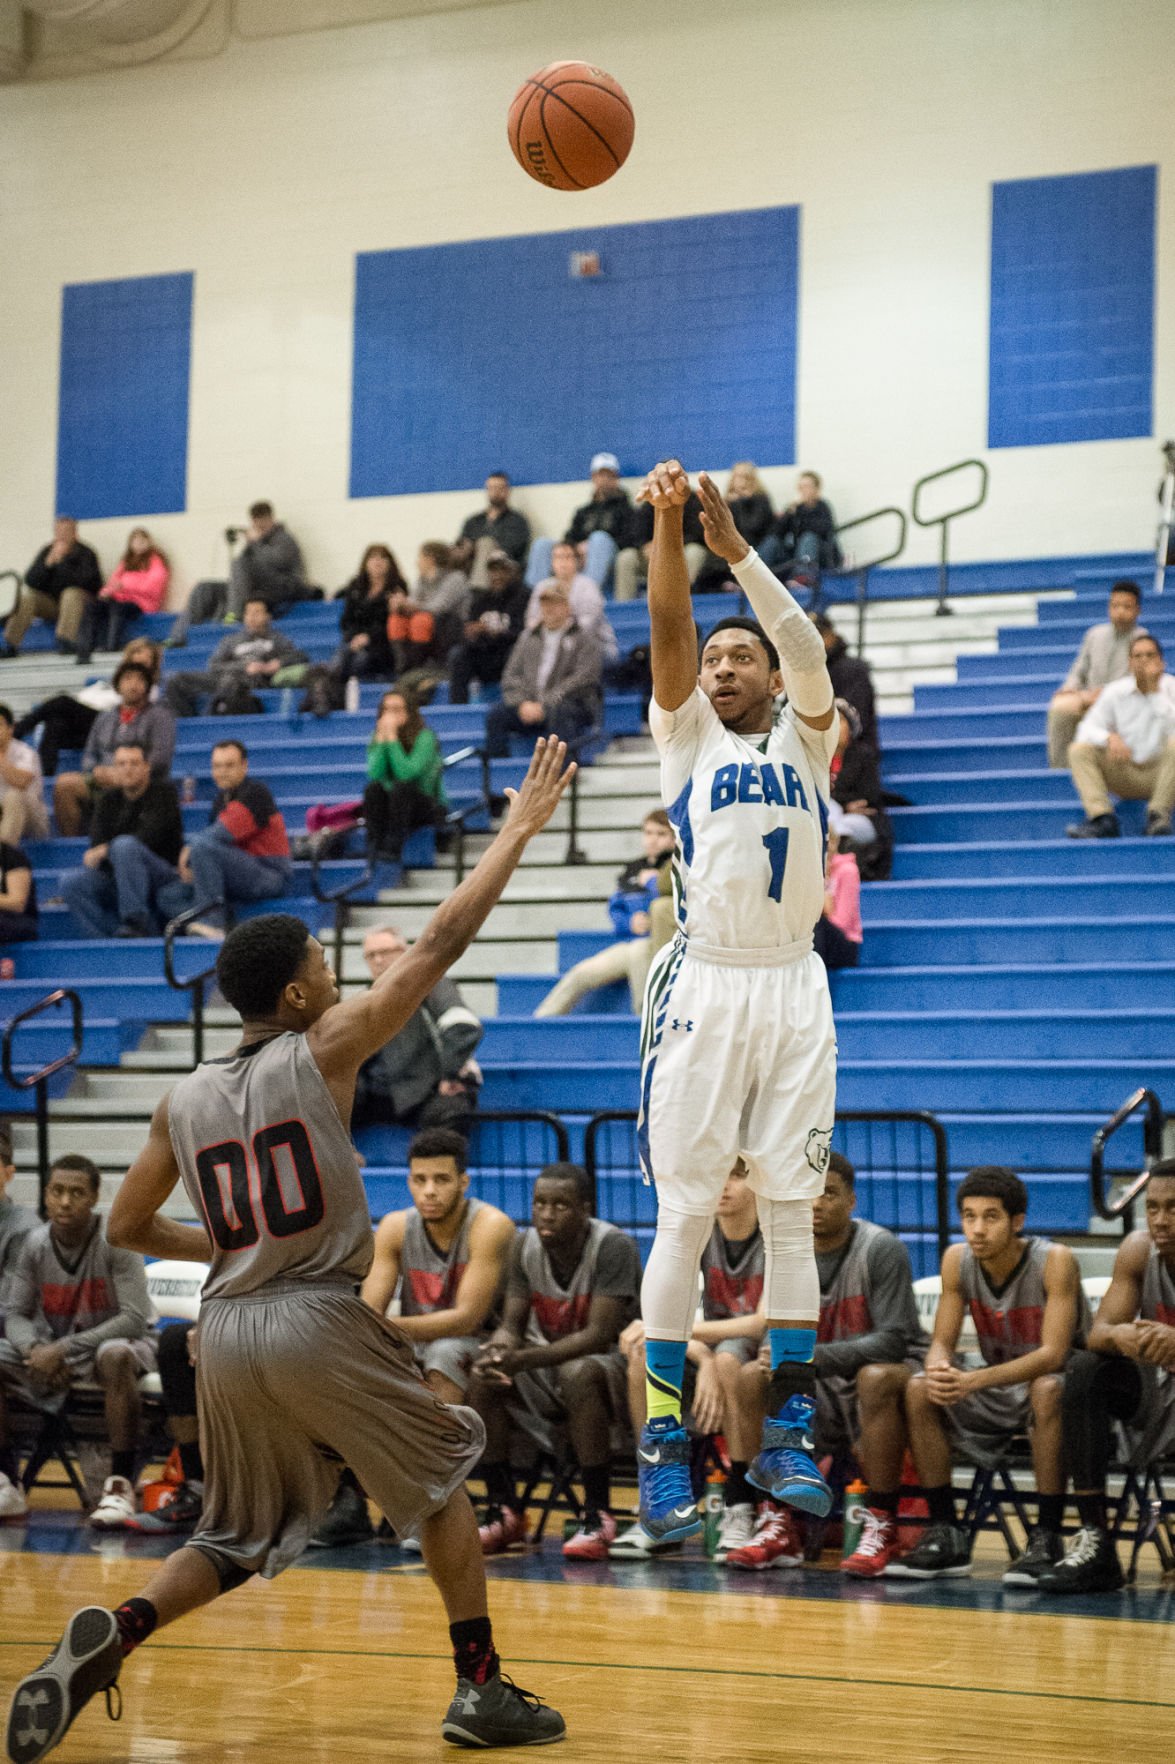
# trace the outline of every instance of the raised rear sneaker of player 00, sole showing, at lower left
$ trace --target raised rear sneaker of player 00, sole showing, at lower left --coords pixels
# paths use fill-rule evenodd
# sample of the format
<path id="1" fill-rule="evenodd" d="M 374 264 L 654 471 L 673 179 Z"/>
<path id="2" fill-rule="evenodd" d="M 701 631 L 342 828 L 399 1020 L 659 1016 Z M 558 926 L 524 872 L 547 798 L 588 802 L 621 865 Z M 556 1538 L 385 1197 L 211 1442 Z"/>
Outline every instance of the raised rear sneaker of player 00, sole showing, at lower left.
<path id="1" fill-rule="evenodd" d="M 37 1764 L 53 1752 L 99 1690 L 106 1692 L 106 1713 L 116 1722 L 122 1715 L 120 1672 L 115 1612 L 101 1605 L 74 1611 L 49 1658 L 16 1686 L 9 1713 L 12 1764 Z"/>

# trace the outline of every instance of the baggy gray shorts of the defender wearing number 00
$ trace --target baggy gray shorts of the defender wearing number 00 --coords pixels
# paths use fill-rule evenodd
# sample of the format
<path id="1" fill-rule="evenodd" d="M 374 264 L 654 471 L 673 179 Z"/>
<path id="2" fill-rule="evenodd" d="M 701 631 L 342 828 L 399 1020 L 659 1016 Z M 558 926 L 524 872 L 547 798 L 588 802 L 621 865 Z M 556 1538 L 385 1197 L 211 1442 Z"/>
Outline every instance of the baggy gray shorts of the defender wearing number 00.
<path id="1" fill-rule="evenodd" d="M 348 1286 L 205 1302 L 196 1395 L 205 1514 L 191 1544 L 266 1579 L 305 1549 L 342 1464 L 406 1536 L 485 1446 L 480 1416 L 439 1402 L 408 1337 Z"/>

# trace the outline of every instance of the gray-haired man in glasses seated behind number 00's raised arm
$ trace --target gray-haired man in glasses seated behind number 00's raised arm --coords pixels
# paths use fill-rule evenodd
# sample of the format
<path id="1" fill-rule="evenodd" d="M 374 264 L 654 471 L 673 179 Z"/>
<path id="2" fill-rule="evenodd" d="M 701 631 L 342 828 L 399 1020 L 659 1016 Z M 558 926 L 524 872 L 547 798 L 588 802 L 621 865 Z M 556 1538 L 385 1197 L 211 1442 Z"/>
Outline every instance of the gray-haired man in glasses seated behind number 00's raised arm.
<path id="1" fill-rule="evenodd" d="M 392 924 L 369 931 L 363 961 L 372 981 L 406 949 L 408 940 Z M 439 981 L 399 1035 L 360 1065 L 351 1125 L 468 1132 L 482 1083 L 473 1058 L 482 1035 L 482 1023 L 462 998 L 457 981 Z"/>

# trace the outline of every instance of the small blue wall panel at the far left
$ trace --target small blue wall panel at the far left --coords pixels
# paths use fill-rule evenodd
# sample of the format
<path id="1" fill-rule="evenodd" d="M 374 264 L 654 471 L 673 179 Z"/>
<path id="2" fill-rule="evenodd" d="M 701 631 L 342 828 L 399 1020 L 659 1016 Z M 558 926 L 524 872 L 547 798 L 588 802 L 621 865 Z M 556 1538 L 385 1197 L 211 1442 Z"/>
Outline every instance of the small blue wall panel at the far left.
<path id="1" fill-rule="evenodd" d="M 62 289 L 56 508 L 79 520 L 187 506 L 192 275 Z"/>

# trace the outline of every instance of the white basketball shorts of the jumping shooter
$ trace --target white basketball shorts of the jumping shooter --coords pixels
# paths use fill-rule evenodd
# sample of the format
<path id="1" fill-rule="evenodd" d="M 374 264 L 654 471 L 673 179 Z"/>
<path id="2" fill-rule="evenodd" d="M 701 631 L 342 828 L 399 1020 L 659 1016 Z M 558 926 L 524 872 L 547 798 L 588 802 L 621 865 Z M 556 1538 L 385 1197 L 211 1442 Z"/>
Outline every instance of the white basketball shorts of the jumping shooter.
<path id="1" fill-rule="evenodd" d="M 662 1201 L 713 1214 L 743 1159 L 757 1194 L 824 1191 L 836 1113 L 836 1030 L 824 963 L 810 949 L 771 967 L 655 956 L 640 1021 L 640 1164 Z"/>

